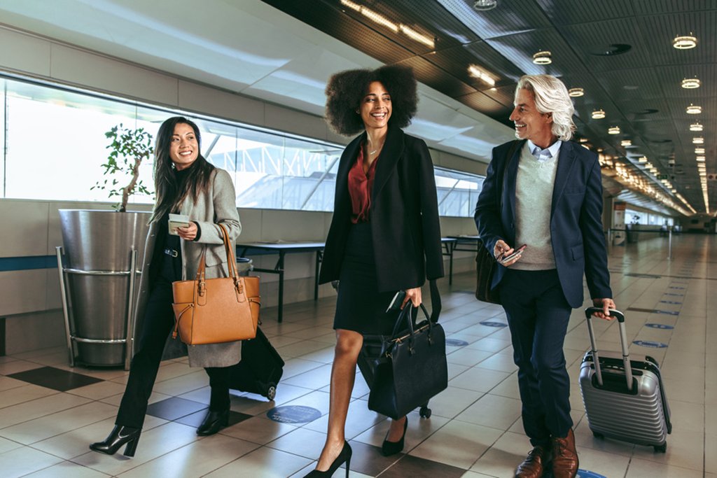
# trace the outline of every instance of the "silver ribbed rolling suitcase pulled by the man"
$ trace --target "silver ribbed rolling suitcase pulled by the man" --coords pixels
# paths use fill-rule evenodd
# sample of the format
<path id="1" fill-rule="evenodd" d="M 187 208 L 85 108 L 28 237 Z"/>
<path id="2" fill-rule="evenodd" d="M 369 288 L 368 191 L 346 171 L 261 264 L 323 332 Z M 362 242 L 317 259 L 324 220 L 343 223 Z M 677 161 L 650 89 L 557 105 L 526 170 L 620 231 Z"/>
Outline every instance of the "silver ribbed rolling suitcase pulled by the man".
<path id="1" fill-rule="evenodd" d="M 580 391 L 590 430 L 599 438 L 654 446 L 664 453 L 672 424 L 657 361 L 647 355 L 630 357 L 625 315 L 617 310 L 610 315 L 617 317 L 622 353 L 598 353 L 591 317 L 600 310 L 585 310 L 591 350 L 580 366 Z"/>

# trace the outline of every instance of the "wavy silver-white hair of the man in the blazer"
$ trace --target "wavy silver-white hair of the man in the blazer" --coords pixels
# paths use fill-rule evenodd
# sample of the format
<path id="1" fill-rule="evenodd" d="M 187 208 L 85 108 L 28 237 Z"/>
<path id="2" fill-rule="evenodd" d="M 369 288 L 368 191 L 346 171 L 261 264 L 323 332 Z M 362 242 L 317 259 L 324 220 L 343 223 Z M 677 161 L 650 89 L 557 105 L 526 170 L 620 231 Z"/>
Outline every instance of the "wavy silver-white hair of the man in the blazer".
<path id="1" fill-rule="evenodd" d="M 559 139 L 568 141 L 573 137 L 575 109 L 564 83 L 552 75 L 523 75 L 518 80 L 518 90 L 533 92 L 538 113 L 552 113 L 552 132 Z"/>

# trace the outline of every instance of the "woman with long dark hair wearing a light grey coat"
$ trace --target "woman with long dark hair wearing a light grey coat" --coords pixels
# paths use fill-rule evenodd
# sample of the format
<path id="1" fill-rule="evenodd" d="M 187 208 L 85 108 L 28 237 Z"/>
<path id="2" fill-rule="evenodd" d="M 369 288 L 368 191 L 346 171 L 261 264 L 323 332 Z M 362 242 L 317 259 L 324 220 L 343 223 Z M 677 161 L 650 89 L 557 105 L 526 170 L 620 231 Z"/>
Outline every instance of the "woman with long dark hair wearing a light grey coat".
<path id="1" fill-rule="evenodd" d="M 227 253 L 218 224 L 229 231 L 229 242 L 242 225 L 229 173 L 215 168 L 201 156 L 199 128 L 192 121 L 174 117 L 159 127 L 155 146 L 156 203 L 147 236 L 140 295 L 136 353 L 115 428 L 105 441 L 90 449 L 115 454 L 124 444 L 133 457 L 139 441 L 149 396 L 156 380 L 166 339 L 174 325 L 172 282 L 196 275 L 206 248 L 206 277 L 227 277 Z M 170 213 L 189 216 L 189 226 L 170 234 Z M 204 367 L 212 389 L 209 411 L 196 433 L 211 435 L 229 419 L 229 367 L 239 362 L 241 343 L 195 345 L 189 348 L 189 365 Z"/>

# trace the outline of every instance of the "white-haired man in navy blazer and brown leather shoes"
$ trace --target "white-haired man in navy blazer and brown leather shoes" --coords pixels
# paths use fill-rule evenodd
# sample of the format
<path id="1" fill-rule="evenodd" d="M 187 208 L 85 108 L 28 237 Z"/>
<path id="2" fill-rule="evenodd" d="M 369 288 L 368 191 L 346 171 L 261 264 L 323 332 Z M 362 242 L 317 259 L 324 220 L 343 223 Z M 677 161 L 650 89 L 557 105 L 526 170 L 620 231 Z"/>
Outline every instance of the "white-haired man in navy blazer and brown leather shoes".
<path id="1" fill-rule="evenodd" d="M 555 478 L 576 476 L 563 343 L 571 310 L 583 303 L 583 275 L 602 307 L 597 317 L 612 319 L 615 307 L 600 166 L 596 154 L 570 141 L 573 111 L 556 77 L 521 77 L 511 114 L 518 140 L 493 149 L 475 207 L 480 239 L 500 264 L 492 287 L 508 317 L 523 428 L 533 445 L 516 469 L 521 478 L 541 477 L 550 465 Z"/>

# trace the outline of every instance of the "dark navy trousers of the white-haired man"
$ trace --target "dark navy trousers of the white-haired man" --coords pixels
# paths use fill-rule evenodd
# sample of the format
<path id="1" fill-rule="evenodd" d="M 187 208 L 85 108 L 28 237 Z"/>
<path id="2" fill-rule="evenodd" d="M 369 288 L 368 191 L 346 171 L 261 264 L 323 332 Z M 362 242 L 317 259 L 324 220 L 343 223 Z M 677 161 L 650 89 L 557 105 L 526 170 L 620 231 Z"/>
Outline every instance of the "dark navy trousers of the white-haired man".
<path id="1" fill-rule="evenodd" d="M 572 309 L 555 269 L 508 269 L 500 282 L 500 302 L 518 365 L 523 428 L 533 446 L 546 445 L 551 437 L 566 436 L 573 424 L 563 353 Z"/>

